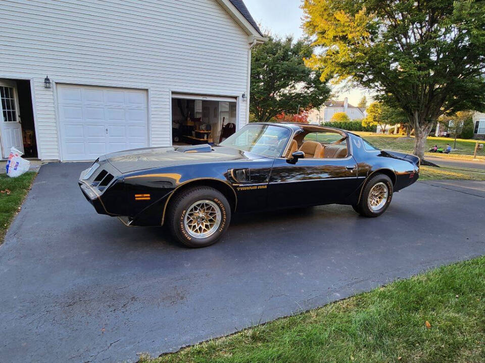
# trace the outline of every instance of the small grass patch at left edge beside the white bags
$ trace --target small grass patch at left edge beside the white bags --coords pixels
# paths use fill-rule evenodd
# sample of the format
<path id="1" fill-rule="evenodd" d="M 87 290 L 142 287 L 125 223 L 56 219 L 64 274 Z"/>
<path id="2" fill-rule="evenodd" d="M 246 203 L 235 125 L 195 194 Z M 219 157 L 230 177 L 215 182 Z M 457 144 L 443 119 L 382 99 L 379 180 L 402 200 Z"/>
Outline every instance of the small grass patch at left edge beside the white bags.
<path id="1" fill-rule="evenodd" d="M 0 244 L 15 213 L 19 211 L 36 173 L 29 171 L 16 178 L 0 174 Z M 10 192 L 10 193 L 9 193 Z"/>

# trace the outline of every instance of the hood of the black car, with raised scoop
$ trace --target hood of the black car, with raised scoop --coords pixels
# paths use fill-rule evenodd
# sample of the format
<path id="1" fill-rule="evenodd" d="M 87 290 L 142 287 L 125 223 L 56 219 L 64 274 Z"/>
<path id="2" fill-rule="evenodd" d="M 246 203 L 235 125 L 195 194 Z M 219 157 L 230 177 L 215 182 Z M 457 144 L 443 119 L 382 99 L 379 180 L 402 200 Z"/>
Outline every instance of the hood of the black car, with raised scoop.
<path id="1" fill-rule="evenodd" d="M 265 156 L 224 146 L 144 148 L 120 151 L 100 157 L 121 173 L 164 166 L 202 164 L 229 160 L 261 159 Z"/>

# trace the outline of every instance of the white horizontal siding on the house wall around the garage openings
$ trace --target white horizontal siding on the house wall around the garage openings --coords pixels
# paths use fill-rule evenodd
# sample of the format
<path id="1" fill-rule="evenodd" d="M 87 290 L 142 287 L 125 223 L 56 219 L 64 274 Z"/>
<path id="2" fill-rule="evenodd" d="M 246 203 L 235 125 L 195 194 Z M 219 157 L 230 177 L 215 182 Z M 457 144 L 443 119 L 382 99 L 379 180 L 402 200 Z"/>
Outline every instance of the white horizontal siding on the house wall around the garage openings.
<path id="1" fill-rule="evenodd" d="M 215 0 L 0 1 L 0 78 L 31 79 L 42 159 L 59 159 L 57 83 L 149 90 L 152 146 L 171 145 L 170 94 L 247 92 L 248 35 Z M 239 127 L 247 107 L 239 99 Z"/>

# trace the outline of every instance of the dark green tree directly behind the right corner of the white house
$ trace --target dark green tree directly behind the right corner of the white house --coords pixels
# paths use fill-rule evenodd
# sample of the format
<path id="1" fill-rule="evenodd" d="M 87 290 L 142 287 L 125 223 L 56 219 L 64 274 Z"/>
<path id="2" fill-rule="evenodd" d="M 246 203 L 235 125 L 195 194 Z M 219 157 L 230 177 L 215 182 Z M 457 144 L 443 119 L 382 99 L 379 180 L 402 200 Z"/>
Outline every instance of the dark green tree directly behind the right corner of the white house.
<path id="1" fill-rule="evenodd" d="M 313 54 L 310 41 L 267 37 L 266 43 L 252 50 L 251 113 L 258 122 L 268 122 L 281 113 L 320 107 L 330 88 L 319 70 L 305 65 L 304 59 Z"/>

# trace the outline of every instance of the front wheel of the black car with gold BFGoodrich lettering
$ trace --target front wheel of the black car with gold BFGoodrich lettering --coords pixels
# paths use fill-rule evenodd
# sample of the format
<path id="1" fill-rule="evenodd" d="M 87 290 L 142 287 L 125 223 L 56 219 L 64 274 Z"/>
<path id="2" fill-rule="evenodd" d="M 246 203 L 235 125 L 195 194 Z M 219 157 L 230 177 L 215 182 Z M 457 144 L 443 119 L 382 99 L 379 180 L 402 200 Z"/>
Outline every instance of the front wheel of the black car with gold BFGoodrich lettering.
<path id="1" fill-rule="evenodd" d="M 171 234 L 191 248 L 217 242 L 227 230 L 231 208 L 226 197 L 210 187 L 187 189 L 174 197 L 168 209 Z"/>

